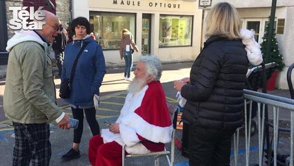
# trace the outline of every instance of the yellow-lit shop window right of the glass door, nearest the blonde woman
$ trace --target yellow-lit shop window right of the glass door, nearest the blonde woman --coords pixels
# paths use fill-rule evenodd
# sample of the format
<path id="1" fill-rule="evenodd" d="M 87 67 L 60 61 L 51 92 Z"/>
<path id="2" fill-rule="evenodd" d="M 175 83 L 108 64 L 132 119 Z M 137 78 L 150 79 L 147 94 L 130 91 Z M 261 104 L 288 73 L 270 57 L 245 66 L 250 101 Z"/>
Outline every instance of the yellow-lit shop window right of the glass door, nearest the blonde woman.
<path id="1" fill-rule="evenodd" d="M 191 46 L 192 16 L 160 15 L 159 47 Z"/>

